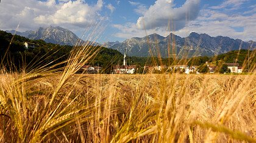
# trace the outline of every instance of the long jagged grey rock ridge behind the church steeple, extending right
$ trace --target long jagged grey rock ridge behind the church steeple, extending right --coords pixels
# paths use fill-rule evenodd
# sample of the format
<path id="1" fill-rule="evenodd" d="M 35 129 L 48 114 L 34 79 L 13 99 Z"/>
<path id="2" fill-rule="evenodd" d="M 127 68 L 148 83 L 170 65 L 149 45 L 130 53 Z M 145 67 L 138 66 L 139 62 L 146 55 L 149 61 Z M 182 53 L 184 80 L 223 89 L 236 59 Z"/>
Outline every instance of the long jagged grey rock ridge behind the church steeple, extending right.
<path id="1" fill-rule="evenodd" d="M 191 56 L 213 56 L 226 53 L 231 50 L 256 48 L 254 41 L 244 42 L 240 39 L 207 34 L 190 33 L 187 38 L 170 33 L 163 37 L 157 34 L 144 38 L 131 38 L 110 48 L 124 53 L 127 48 L 129 56 L 162 56 L 162 57 L 191 57 Z"/>

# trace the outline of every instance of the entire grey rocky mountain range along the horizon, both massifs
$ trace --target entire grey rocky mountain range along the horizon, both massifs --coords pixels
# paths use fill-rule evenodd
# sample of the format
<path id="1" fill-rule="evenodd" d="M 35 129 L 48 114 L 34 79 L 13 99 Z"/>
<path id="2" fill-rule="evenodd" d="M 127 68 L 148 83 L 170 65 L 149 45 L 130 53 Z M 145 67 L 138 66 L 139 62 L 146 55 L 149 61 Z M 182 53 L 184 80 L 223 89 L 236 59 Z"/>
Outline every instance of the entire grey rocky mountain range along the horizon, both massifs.
<path id="1" fill-rule="evenodd" d="M 15 33 L 15 30 L 6 31 Z M 62 27 L 40 27 L 35 31 L 16 32 L 16 35 L 24 36 L 29 39 L 43 39 L 46 42 L 60 45 L 76 45 L 77 42 L 83 44 L 82 39 L 78 38 L 73 32 Z M 101 45 L 95 43 L 93 45 Z M 190 33 L 186 38 L 170 33 L 168 36 L 152 34 L 143 38 L 130 38 L 123 42 L 105 42 L 102 46 L 112 48 L 124 53 L 127 50 L 128 56 L 161 56 L 167 57 L 187 57 L 192 56 L 213 56 L 227 53 L 232 50 L 256 48 L 254 41 L 242 41 L 225 36 L 212 37 L 207 34 Z"/>

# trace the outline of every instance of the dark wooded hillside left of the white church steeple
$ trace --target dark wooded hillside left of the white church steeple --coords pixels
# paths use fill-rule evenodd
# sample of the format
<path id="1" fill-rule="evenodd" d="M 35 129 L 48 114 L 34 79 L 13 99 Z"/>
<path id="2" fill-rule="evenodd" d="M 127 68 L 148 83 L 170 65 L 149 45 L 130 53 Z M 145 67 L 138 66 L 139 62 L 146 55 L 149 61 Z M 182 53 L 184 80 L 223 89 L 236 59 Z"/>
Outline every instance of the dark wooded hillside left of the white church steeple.
<path id="1" fill-rule="evenodd" d="M 13 38 L 12 44 L 10 44 Z M 34 49 L 26 50 L 24 47 L 24 42 L 31 42 L 37 45 Z M 15 35 L 0 30 L 0 59 L 5 67 L 9 70 L 16 69 L 20 70 L 26 65 L 27 70 L 32 70 L 33 68 L 38 68 L 41 65 L 51 63 L 50 65 L 57 64 L 59 62 L 68 59 L 69 53 L 72 50 L 70 45 L 59 45 L 47 43 L 43 40 L 31 40 L 24 38 L 23 36 Z M 8 50 L 8 56 L 5 56 L 5 52 Z M 98 55 L 91 59 L 88 64 L 98 65 L 103 68 L 109 68 L 110 62 L 112 64 L 119 64 L 123 60 L 123 55 L 117 50 L 110 48 L 99 47 L 91 45 L 91 48 L 101 48 Z M 3 59 L 4 58 L 4 59 Z M 10 62 L 12 64 L 10 65 Z M 60 65 L 64 66 L 64 65 Z"/>

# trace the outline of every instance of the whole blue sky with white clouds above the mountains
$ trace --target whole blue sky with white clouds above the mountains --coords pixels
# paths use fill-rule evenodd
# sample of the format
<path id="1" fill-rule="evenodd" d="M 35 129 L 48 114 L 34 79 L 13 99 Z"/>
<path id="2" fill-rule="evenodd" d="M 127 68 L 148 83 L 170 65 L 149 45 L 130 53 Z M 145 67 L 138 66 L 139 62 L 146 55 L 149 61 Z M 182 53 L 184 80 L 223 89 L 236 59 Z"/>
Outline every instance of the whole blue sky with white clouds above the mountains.
<path id="1" fill-rule="evenodd" d="M 60 26 L 103 43 L 191 32 L 256 41 L 255 0 L 1 0 L 0 30 Z M 17 28 L 18 27 L 18 28 Z M 87 36 L 84 36 L 87 35 Z M 94 35 L 94 36 L 90 36 Z"/>

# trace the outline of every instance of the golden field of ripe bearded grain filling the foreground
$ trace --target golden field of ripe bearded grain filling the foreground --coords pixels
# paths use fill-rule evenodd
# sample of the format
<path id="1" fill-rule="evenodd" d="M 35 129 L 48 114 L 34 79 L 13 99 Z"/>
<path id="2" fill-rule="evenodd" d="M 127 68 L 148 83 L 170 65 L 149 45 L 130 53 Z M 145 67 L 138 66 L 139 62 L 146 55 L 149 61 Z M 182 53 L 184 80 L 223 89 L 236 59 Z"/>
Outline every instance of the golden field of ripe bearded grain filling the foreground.
<path id="1" fill-rule="evenodd" d="M 255 75 L 1 75 L 0 142 L 255 142 Z"/>

